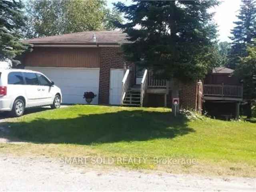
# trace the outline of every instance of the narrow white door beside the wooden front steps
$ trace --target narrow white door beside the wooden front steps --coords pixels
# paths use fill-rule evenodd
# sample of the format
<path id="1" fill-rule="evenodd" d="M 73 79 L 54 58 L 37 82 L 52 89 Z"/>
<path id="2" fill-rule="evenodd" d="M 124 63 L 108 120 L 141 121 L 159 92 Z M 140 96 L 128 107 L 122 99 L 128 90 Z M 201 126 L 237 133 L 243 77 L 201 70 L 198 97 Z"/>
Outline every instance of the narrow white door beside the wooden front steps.
<path id="1" fill-rule="evenodd" d="M 123 69 L 110 70 L 110 91 L 109 91 L 109 104 L 120 105 L 122 94 L 122 80 L 124 78 Z"/>

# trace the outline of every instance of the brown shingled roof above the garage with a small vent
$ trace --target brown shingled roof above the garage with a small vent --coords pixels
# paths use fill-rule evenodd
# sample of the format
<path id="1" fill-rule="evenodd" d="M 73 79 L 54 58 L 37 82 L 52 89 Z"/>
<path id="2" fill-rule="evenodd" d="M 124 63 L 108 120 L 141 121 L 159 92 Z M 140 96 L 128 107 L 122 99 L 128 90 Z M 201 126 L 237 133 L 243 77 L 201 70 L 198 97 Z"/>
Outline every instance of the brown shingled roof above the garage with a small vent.
<path id="1" fill-rule="evenodd" d="M 123 44 L 128 43 L 126 33 L 122 31 L 88 31 L 64 35 L 33 38 L 24 42 L 30 44 L 95 44 L 93 36 L 96 36 L 98 44 Z"/>

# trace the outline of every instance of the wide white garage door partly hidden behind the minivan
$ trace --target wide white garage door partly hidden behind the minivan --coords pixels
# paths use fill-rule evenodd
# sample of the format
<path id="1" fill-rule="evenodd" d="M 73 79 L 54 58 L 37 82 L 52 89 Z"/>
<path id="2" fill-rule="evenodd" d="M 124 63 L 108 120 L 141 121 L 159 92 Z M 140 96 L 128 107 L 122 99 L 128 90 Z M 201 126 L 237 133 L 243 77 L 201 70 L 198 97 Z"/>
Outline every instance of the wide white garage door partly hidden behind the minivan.
<path id="1" fill-rule="evenodd" d="M 84 92 L 92 91 L 97 94 L 92 104 L 98 104 L 99 68 L 50 68 L 26 67 L 26 69 L 39 71 L 61 88 L 63 103 L 86 103 Z"/>

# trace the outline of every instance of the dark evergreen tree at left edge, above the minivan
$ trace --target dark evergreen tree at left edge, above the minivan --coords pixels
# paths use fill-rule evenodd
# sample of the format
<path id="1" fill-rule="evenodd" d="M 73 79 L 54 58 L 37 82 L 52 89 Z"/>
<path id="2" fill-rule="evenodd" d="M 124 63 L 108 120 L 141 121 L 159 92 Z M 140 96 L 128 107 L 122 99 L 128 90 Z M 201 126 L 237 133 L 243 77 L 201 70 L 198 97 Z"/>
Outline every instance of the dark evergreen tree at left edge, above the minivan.
<path id="1" fill-rule="evenodd" d="M 14 58 L 20 55 L 27 46 L 20 42 L 20 29 L 25 25 L 22 12 L 23 4 L 18 0 L 0 0 L 0 60 Z"/>

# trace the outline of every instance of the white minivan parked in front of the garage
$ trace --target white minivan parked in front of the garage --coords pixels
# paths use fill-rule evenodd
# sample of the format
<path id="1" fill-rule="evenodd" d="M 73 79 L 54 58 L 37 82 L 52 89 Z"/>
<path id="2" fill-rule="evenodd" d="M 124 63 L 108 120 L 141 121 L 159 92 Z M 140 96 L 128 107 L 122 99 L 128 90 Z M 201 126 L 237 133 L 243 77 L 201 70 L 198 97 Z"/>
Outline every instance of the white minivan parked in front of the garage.
<path id="1" fill-rule="evenodd" d="M 0 111 L 19 117 L 25 108 L 60 108 L 62 94 L 44 74 L 32 70 L 0 69 Z"/>

